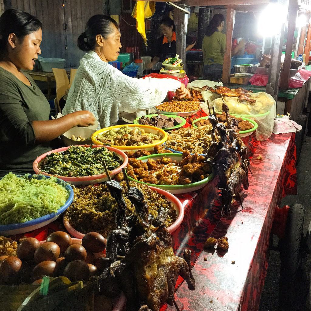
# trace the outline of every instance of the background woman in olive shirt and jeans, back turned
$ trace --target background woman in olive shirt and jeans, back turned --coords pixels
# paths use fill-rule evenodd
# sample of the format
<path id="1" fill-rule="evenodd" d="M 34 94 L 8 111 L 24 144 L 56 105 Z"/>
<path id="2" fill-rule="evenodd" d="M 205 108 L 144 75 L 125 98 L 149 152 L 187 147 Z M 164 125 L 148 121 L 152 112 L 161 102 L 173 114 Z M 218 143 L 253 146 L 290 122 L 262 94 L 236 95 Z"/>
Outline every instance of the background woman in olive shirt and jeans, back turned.
<path id="1" fill-rule="evenodd" d="M 226 35 L 221 33 L 225 27 L 222 14 L 215 14 L 209 22 L 202 42 L 203 79 L 220 81 L 226 50 Z"/>

